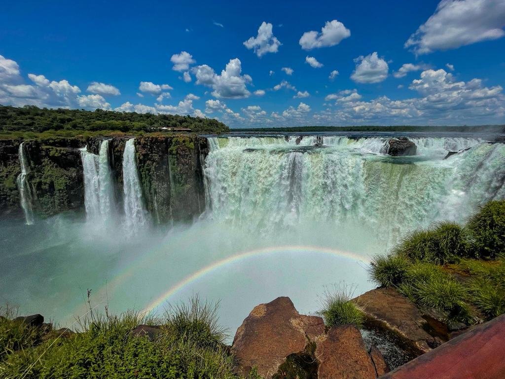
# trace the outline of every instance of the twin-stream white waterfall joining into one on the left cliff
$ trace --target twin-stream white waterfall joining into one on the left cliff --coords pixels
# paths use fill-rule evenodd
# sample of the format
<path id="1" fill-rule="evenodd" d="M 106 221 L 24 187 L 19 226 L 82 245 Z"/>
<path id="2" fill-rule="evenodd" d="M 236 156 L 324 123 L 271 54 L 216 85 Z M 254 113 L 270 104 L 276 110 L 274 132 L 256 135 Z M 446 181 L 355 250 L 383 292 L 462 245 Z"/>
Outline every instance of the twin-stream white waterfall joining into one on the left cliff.
<path id="1" fill-rule="evenodd" d="M 84 174 L 84 207 L 88 219 L 106 222 L 114 218 L 114 184 L 109 163 L 109 140 L 100 144 L 99 155 L 81 149 Z"/>

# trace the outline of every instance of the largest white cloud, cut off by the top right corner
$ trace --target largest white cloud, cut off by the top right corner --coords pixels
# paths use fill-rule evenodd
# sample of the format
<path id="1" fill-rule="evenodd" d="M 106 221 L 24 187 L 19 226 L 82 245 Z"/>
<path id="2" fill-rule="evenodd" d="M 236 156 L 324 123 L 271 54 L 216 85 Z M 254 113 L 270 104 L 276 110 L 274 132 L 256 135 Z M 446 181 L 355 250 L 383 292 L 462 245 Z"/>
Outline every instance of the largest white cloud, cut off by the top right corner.
<path id="1" fill-rule="evenodd" d="M 503 0 L 442 0 L 435 13 L 405 42 L 416 54 L 457 49 L 505 35 Z"/>

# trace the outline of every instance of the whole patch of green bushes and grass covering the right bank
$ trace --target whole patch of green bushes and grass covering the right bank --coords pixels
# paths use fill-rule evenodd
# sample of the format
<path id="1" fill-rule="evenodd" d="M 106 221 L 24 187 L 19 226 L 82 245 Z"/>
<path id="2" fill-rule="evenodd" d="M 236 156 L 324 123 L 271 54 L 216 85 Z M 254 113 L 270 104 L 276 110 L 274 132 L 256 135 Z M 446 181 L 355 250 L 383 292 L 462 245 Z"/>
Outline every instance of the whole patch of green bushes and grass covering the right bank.
<path id="1" fill-rule="evenodd" d="M 409 234 L 372 260 L 370 276 L 448 322 L 505 313 L 505 200 L 487 203 L 464 226 L 442 222 Z"/>

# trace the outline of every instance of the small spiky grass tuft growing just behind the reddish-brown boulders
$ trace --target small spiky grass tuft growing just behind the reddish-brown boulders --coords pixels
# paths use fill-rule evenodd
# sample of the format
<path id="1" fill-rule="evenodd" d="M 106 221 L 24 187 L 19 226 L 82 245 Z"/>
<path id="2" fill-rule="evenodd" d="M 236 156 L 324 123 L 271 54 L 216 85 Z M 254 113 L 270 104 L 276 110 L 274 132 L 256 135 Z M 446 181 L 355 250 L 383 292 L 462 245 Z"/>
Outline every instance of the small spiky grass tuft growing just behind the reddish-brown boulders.
<path id="1" fill-rule="evenodd" d="M 319 313 L 323 316 L 326 326 L 355 324 L 363 326 L 365 315 L 352 302 L 352 289 L 336 287 L 333 291 L 326 290 L 322 300 L 323 309 Z"/>

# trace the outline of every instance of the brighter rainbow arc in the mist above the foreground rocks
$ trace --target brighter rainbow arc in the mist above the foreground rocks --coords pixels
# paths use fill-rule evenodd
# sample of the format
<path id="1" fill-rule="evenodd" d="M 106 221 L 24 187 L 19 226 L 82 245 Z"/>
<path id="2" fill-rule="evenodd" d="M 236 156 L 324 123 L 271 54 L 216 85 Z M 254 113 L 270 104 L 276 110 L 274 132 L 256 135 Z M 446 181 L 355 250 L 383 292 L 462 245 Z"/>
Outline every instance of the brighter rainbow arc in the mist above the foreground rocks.
<path id="1" fill-rule="evenodd" d="M 267 255 L 267 254 L 275 254 L 275 253 L 296 253 L 296 254 L 301 254 L 301 253 L 323 253 L 323 254 L 331 254 L 334 256 L 338 256 L 341 258 L 347 258 L 347 259 L 352 259 L 356 261 L 361 261 L 364 263 L 370 263 L 370 259 L 365 258 L 359 254 L 356 253 L 351 253 L 347 251 L 342 251 L 342 250 L 336 250 L 336 249 L 330 249 L 330 248 L 324 248 L 324 247 L 315 247 L 315 246 L 301 246 L 301 245 L 287 245 L 287 246 L 275 246 L 275 247 L 268 247 L 268 248 L 262 248 L 262 249 L 257 249 L 257 250 L 250 250 L 246 252 L 242 252 L 236 255 L 232 255 L 228 258 L 224 258 L 222 260 L 219 260 L 217 262 L 214 262 L 210 264 L 209 266 L 206 266 L 204 268 L 199 269 L 198 271 L 194 272 L 193 274 L 186 276 L 184 279 L 181 281 L 177 282 L 174 286 L 170 287 L 166 292 L 161 294 L 157 299 L 149 303 L 144 309 L 143 312 L 148 313 L 156 308 L 158 308 L 160 305 L 163 303 L 167 302 L 173 295 L 175 295 L 177 292 L 181 291 L 183 288 L 191 285 L 191 283 L 203 278 L 204 276 L 216 271 L 219 268 L 222 268 L 224 266 L 236 263 L 238 261 L 242 261 L 245 259 L 249 259 L 252 257 L 260 256 L 260 255 Z"/>

